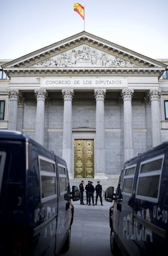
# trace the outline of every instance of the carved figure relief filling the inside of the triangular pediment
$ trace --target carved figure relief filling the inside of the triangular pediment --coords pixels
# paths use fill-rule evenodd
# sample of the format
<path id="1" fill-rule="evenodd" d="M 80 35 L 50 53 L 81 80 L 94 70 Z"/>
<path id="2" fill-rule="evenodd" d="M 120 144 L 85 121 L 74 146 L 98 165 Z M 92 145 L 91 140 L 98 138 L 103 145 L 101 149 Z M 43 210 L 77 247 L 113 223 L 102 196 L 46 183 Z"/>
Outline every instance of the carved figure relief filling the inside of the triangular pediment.
<path id="1" fill-rule="evenodd" d="M 123 60 L 88 46 L 80 46 L 65 53 L 44 59 L 33 67 L 137 67 L 131 61 Z"/>

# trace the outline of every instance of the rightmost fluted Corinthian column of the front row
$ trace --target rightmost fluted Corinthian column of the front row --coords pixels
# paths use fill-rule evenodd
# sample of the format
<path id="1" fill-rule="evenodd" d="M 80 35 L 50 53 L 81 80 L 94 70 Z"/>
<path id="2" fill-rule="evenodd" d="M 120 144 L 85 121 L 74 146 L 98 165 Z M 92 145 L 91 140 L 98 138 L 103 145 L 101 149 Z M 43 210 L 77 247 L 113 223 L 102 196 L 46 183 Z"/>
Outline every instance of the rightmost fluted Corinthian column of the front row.
<path id="1" fill-rule="evenodd" d="M 149 99 L 151 100 L 151 132 L 152 132 L 152 147 L 162 143 L 160 131 L 160 113 L 159 100 L 161 90 L 149 90 Z"/>

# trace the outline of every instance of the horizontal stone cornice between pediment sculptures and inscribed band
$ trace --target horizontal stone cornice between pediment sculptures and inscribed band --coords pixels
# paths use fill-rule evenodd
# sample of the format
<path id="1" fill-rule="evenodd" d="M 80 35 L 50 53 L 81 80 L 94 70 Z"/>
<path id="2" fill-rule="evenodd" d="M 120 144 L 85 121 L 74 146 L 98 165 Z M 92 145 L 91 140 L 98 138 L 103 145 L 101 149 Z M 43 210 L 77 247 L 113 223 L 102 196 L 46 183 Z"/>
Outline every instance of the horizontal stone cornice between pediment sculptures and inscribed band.
<path id="1" fill-rule="evenodd" d="M 13 76 L 157 76 L 160 78 L 164 72 L 164 68 L 148 67 L 89 67 L 89 68 L 6 68 L 6 74 Z"/>

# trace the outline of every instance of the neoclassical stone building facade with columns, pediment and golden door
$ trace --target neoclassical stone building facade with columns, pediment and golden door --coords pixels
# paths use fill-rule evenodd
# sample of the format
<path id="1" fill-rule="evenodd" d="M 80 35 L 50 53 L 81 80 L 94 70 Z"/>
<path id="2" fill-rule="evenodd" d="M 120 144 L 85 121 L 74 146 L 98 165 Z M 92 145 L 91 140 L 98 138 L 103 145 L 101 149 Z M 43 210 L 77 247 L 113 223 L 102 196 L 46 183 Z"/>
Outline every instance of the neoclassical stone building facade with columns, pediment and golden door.
<path id="1" fill-rule="evenodd" d="M 0 64 L 0 128 L 65 158 L 72 184 L 116 187 L 127 159 L 168 140 L 168 59 L 83 31 Z"/>

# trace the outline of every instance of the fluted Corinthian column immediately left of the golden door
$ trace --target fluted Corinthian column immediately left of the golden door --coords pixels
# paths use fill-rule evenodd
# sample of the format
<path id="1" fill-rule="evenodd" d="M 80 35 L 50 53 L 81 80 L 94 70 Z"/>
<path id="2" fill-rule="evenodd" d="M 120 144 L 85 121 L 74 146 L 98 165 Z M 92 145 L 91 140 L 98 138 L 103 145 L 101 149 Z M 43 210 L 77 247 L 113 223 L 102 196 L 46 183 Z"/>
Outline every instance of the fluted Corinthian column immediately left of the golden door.
<path id="1" fill-rule="evenodd" d="M 64 99 L 63 117 L 63 138 L 62 138 L 62 158 L 67 162 L 69 176 L 72 178 L 72 99 L 73 89 L 62 89 Z"/>

